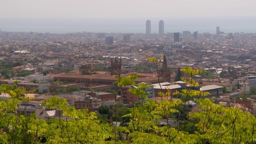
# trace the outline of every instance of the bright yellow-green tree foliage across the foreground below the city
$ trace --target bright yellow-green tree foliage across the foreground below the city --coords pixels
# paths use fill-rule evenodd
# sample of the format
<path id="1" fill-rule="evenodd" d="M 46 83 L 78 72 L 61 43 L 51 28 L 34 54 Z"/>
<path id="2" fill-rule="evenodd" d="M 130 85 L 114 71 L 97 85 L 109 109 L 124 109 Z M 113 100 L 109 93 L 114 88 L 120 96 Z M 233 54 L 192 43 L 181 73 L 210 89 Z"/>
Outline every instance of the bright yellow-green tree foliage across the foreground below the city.
<path id="1" fill-rule="evenodd" d="M 147 56 L 156 64 L 158 59 Z M 156 64 L 156 73 L 158 65 Z M 139 103 L 130 100 L 131 108 L 126 108 L 117 103 L 112 108 L 108 106 L 99 108 L 99 112 L 88 112 L 88 109 L 76 110 L 69 106 L 66 99 L 58 96 L 42 100 L 43 108 L 56 110 L 56 116 L 48 120 L 40 120 L 35 114 L 26 116 L 25 111 L 17 111 L 22 103 L 26 104 L 33 98 L 22 97 L 22 94 L 31 93 L 24 88 L 2 85 L 0 92 L 10 94 L 11 98 L 6 102 L 0 101 L 0 133 L 1 143 L 51 143 L 51 144 L 254 144 L 256 142 L 256 118 L 238 108 L 224 107 L 214 103 L 214 100 L 204 98 L 208 92 L 193 90 L 198 83 L 192 76 L 205 72 L 194 68 L 181 69 L 190 78 L 181 77 L 188 88 L 180 92 L 159 92 L 162 98 L 159 101 L 148 100 L 145 88 L 148 84 L 138 84 L 128 91 L 147 100 L 147 103 Z M 120 86 L 135 85 L 135 80 L 140 74 L 130 76 L 115 76 L 115 84 Z M 172 100 L 172 96 L 180 95 L 184 100 Z M 126 96 L 124 94 L 124 96 Z M 190 98 L 197 98 L 194 102 L 198 109 L 191 112 L 191 105 L 184 105 Z M 10 114 L 9 112 L 12 112 Z M 114 115 L 121 121 L 121 126 L 113 127 L 107 122 L 108 116 Z M 163 119 L 168 123 L 160 126 Z M 176 126 L 169 125 L 174 122 Z M 122 135 L 126 134 L 126 139 Z"/>

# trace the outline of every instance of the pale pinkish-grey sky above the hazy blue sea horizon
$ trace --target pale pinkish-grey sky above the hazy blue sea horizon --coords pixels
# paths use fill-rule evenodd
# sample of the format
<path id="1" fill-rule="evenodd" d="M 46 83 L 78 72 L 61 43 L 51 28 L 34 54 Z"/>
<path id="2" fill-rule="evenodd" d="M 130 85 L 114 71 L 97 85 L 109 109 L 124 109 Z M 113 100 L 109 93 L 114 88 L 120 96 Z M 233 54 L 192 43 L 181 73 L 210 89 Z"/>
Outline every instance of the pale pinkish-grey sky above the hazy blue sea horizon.
<path id="1" fill-rule="evenodd" d="M 255 16 L 256 0 L 0 0 L 2 18 Z"/>

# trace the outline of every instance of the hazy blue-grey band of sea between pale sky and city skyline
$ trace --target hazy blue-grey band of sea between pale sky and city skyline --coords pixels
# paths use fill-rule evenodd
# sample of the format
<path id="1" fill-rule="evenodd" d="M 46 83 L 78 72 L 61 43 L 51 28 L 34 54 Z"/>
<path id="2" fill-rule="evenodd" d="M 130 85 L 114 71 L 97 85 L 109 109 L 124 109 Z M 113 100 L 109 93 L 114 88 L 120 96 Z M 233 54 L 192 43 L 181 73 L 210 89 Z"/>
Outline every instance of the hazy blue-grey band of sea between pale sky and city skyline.
<path id="1" fill-rule="evenodd" d="M 164 20 L 164 33 L 190 32 L 216 33 L 256 32 L 256 17 L 212 17 L 212 18 L 161 18 Z M 60 19 L 60 18 L 0 18 L 0 29 L 8 32 L 106 32 L 106 33 L 146 33 L 146 20 L 151 21 L 151 34 L 158 34 L 155 18 L 101 18 L 101 19 Z"/>

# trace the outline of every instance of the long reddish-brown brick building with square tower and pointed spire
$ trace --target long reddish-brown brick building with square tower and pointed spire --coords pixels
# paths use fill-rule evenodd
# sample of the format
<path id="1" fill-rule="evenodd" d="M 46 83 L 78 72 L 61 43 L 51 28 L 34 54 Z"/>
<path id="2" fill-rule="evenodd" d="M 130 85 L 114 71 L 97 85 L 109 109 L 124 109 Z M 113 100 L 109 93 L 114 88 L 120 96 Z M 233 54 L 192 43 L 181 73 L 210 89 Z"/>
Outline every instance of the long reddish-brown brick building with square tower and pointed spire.
<path id="1" fill-rule="evenodd" d="M 59 80 L 61 82 L 74 83 L 76 85 L 81 85 L 79 88 L 94 88 L 99 92 L 105 92 L 106 90 L 119 90 L 119 87 L 113 82 L 116 82 L 117 79 L 114 78 L 114 75 L 120 74 L 122 77 L 130 76 L 132 72 L 126 73 L 121 68 L 122 61 L 118 58 L 111 59 L 111 72 L 98 73 L 93 75 L 82 75 L 81 73 L 69 73 L 69 74 L 60 74 L 54 76 L 54 80 Z M 166 57 L 164 56 L 163 66 L 159 72 L 160 82 L 170 82 L 171 72 L 167 67 Z M 158 83 L 158 76 L 156 74 L 141 73 L 141 76 L 135 80 L 136 84 L 141 82 L 149 82 L 149 84 Z M 71 84 L 70 84 L 71 85 Z M 58 87 L 52 87 L 58 89 Z M 53 89 L 53 90 L 54 90 Z M 68 87 L 66 88 L 68 89 Z"/>

